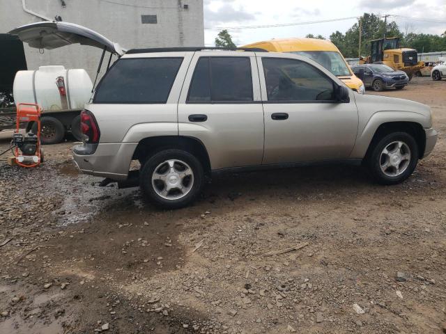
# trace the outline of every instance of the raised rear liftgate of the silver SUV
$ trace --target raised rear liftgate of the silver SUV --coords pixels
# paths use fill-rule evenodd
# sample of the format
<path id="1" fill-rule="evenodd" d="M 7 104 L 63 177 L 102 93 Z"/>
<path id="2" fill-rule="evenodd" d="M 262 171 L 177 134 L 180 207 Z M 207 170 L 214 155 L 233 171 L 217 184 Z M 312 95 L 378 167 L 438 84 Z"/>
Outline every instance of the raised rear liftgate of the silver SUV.
<path id="1" fill-rule="evenodd" d="M 68 22 L 37 22 L 20 26 L 9 32 L 17 35 L 22 42 L 37 49 L 56 49 L 65 45 L 80 43 L 106 49 L 122 56 L 125 51 L 117 43 L 108 40 L 100 33 L 79 24 Z"/>

